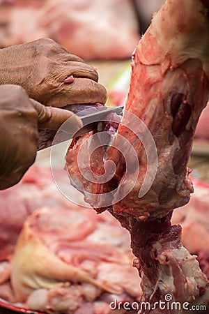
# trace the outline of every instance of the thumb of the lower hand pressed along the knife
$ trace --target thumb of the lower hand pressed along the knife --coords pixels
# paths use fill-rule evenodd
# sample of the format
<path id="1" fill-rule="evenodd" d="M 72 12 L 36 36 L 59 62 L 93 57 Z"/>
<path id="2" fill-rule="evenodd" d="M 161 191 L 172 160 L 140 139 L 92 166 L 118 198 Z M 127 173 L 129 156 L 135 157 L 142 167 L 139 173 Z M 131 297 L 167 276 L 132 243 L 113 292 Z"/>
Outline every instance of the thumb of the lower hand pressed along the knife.
<path id="1" fill-rule="evenodd" d="M 31 99 L 31 102 L 38 113 L 39 129 L 58 130 L 69 118 L 68 128 L 70 133 L 75 133 L 79 128 L 82 128 L 82 121 L 72 112 L 55 107 L 45 107 L 33 99 Z"/>

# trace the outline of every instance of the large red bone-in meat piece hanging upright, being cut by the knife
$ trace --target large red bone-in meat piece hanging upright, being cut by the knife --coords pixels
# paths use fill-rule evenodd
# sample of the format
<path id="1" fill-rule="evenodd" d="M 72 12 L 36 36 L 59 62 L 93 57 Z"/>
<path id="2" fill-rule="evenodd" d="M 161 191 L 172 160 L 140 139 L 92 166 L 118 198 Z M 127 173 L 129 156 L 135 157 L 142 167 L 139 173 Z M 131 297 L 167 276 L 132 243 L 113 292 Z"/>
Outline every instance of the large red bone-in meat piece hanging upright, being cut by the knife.
<path id="1" fill-rule="evenodd" d="M 159 301 L 167 300 L 167 294 L 180 304 L 208 304 L 209 300 L 208 279 L 196 257 L 181 244 L 180 225 L 171 225 L 173 209 L 186 204 L 193 192 L 187 163 L 209 96 L 208 33 L 208 1 L 167 0 L 134 52 L 126 111 L 118 129 L 109 117 L 98 128 L 109 134 L 109 142 L 102 146 L 101 141 L 98 149 L 91 149 L 102 138 L 102 132 L 95 130 L 93 135 L 98 135 L 89 133 L 72 142 L 66 156 L 71 182 L 84 193 L 86 202 L 98 212 L 108 209 L 130 232 L 134 266 L 141 276 L 141 301 L 150 304 L 141 313 L 164 313 Z M 141 187 L 155 163 L 148 165 L 154 150 L 144 149 L 148 133 L 142 140 L 137 136 L 142 133 L 139 121 L 153 136 L 158 156 L 155 179 L 142 197 Z M 117 149 L 118 144 L 122 148 Z M 81 148 L 90 166 L 85 158 L 80 163 Z M 137 178 L 134 184 L 133 178 Z M 105 194 L 110 195 L 109 204 L 102 202 Z M 180 311 L 169 308 L 167 313 Z"/>

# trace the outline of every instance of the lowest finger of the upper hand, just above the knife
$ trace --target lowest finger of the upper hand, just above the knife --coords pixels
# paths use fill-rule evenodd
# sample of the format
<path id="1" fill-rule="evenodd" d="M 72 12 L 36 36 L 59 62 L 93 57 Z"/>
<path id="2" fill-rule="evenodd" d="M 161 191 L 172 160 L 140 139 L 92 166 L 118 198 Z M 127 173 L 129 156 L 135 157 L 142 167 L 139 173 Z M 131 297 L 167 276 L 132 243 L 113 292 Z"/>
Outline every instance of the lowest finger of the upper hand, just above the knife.
<path id="1" fill-rule="evenodd" d="M 54 89 L 45 105 L 64 107 L 78 103 L 102 103 L 107 100 L 107 91 L 103 85 L 87 78 L 77 78 L 70 84 L 62 84 Z"/>

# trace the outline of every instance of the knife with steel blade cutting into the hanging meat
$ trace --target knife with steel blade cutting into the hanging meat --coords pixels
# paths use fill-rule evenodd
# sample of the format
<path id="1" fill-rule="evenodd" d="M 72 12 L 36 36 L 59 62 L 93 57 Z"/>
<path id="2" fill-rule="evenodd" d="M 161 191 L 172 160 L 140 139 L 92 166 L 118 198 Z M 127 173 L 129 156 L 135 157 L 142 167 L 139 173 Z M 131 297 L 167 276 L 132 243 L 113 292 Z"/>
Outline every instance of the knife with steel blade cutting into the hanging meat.
<path id="1" fill-rule="evenodd" d="M 68 121 L 65 121 L 63 126 L 57 132 L 52 130 L 40 130 L 38 139 L 38 151 L 51 147 L 52 145 L 65 142 L 80 135 L 84 135 L 97 128 L 100 121 L 104 121 L 107 114 L 115 112 L 118 115 L 123 114 L 124 105 L 118 107 L 94 107 L 78 112 L 77 115 L 83 122 L 83 127 L 76 133 L 68 132 Z"/>

